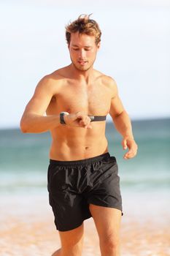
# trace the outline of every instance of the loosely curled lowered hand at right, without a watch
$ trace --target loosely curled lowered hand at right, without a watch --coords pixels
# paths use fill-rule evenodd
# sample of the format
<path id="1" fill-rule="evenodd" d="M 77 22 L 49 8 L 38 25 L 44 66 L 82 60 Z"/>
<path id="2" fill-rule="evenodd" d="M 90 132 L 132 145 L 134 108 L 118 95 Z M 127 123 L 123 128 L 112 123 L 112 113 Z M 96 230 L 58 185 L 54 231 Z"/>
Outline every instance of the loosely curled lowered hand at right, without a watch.
<path id="1" fill-rule="evenodd" d="M 137 146 L 134 139 L 132 139 L 132 138 L 123 138 L 122 146 L 123 146 L 124 150 L 127 149 L 127 147 L 129 149 L 129 151 L 125 153 L 125 155 L 123 157 L 124 159 L 130 159 L 130 158 L 133 158 L 133 157 L 136 156 L 138 146 Z"/>

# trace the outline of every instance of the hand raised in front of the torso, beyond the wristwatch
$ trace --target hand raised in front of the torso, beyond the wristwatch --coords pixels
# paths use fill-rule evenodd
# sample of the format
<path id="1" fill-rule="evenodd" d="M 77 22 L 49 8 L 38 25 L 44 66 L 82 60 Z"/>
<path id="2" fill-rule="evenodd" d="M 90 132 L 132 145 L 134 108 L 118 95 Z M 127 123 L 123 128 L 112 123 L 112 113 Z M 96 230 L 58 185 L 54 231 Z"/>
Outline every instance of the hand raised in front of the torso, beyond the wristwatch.
<path id="1" fill-rule="evenodd" d="M 90 125 L 90 117 L 82 112 L 66 115 L 64 116 L 64 121 L 71 127 L 83 127 L 92 129 L 92 126 Z"/>

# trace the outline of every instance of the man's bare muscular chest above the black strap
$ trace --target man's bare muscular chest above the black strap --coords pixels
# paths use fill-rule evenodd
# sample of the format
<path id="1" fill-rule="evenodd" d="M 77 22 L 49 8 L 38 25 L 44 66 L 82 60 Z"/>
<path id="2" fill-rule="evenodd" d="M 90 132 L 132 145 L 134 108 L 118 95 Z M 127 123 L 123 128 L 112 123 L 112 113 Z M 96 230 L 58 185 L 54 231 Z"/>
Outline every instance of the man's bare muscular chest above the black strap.
<path id="1" fill-rule="evenodd" d="M 66 86 L 58 92 L 50 108 L 58 112 L 76 113 L 83 111 L 90 115 L 107 115 L 110 105 L 109 90 L 105 86 Z"/>

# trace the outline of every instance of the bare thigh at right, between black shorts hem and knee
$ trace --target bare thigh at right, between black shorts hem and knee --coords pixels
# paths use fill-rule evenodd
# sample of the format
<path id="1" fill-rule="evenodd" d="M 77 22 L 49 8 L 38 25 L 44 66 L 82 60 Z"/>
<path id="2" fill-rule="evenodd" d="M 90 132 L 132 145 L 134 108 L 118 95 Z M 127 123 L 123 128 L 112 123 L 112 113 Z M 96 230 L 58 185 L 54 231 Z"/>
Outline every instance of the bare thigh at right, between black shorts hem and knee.
<path id="1" fill-rule="evenodd" d="M 90 203 L 90 213 L 94 219 L 100 240 L 120 235 L 121 211 L 117 208 L 96 206 Z"/>

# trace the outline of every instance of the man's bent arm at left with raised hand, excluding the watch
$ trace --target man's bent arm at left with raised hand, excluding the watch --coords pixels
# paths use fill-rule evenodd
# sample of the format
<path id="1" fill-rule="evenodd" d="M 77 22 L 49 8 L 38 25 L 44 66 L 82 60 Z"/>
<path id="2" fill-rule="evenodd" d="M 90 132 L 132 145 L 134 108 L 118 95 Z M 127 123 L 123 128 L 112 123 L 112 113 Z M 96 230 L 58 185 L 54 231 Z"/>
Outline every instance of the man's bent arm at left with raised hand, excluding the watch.
<path id="1" fill-rule="evenodd" d="M 24 133 L 39 133 L 47 132 L 61 126 L 60 115 L 44 116 L 48 105 L 56 94 L 53 89 L 53 80 L 48 76 L 42 78 L 36 86 L 35 92 L 31 100 L 26 105 L 23 116 L 20 120 L 20 129 Z M 72 127 L 92 128 L 90 125 L 90 118 L 82 112 L 72 113 L 64 116 L 66 124 Z"/>

